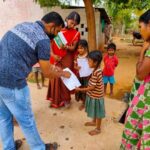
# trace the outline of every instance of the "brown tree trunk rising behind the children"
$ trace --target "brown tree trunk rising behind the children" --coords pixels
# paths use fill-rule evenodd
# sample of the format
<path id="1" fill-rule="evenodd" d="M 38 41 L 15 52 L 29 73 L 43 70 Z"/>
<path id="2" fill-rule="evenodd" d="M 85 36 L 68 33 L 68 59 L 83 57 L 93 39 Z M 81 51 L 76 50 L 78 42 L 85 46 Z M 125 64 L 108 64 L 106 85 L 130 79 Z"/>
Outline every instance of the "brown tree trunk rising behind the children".
<path id="1" fill-rule="evenodd" d="M 95 12 L 93 8 L 92 0 L 83 0 L 83 1 L 85 4 L 85 12 L 87 18 L 89 50 L 91 51 L 97 49 Z"/>

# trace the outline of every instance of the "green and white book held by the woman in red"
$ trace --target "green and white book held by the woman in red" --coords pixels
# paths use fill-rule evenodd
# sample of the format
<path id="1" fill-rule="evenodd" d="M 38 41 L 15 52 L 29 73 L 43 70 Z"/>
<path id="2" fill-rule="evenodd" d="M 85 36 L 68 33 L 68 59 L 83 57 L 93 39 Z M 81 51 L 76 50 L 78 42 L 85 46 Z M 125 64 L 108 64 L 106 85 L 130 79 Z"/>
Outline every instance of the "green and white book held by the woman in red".
<path id="1" fill-rule="evenodd" d="M 58 48 L 60 48 L 61 45 L 66 45 L 68 43 L 62 32 L 58 33 L 58 35 L 54 38 L 54 41 Z"/>

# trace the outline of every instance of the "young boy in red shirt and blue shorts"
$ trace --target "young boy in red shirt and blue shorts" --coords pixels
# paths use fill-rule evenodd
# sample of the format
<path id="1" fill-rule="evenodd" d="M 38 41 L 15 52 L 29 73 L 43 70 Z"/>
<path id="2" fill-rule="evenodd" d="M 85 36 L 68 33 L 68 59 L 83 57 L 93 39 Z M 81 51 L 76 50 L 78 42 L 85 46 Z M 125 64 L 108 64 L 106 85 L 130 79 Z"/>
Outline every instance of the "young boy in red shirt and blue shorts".
<path id="1" fill-rule="evenodd" d="M 107 54 L 104 56 L 103 81 L 104 92 L 106 94 L 107 83 L 110 83 L 110 95 L 113 95 L 113 85 L 115 83 L 114 70 L 118 65 L 118 58 L 115 55 L 116 45 L 110 43 L 107 47 Z"/>

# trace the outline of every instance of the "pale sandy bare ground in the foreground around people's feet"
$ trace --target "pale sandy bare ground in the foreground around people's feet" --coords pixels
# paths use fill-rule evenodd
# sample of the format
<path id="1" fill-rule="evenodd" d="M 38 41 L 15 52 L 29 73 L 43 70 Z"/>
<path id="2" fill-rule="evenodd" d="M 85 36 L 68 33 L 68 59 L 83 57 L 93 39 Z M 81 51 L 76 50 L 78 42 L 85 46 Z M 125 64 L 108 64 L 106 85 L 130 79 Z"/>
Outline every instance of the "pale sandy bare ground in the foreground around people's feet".
<path id="1" fill-rule="evenodd" d="M 50 109 L 49 103 L 44 100 L 46 88 L 38 90 L 35 84 L 29 84 L 31 89 L 32 105 L 38 130 L 45 142 L 57 141 L 59 150 L 118 150 L 123 126 L 113 121 L 118 117 L 125 105 L 119 101 L 106 98 L 106 119 L 102 122 L 102 133 L 90 136 L 88 131 L 92 127 L 85 127 L 89 119 L 84 111 L 79 111 L 79 103 L 72 98 L 70 109 Z M 24 136 L 19 127 L 15 127 L 15 139 Z M 0 148 L 2 150 L 2 148 Z M 21 150 L 28 150 L 24 140 Z"/>

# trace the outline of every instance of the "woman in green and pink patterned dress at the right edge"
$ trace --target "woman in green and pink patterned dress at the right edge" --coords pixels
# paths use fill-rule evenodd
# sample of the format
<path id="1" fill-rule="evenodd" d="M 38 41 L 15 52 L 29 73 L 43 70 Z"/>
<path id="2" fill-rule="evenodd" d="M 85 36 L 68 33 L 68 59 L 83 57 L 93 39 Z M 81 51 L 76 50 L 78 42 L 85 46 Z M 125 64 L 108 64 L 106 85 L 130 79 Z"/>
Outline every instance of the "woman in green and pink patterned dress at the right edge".
<path id="1" fill-rule="evenodd" d="M 150 10 L 140 17 L 139 27 L 146 41 L 136 65 L 141 82 L 132 89 L 120 150 L 150 150 Z"/>

